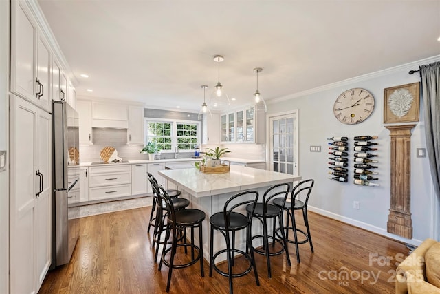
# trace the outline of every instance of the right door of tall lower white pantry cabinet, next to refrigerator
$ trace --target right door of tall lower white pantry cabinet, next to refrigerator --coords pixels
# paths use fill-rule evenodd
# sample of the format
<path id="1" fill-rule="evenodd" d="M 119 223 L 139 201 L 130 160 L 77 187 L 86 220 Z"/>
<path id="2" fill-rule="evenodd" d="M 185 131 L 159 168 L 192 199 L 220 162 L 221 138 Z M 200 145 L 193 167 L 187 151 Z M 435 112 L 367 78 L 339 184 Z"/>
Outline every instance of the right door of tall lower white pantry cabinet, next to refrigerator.
<path id="1" fill-rule="evenodd" d="M 35 206 L 35 274 L 36 285 L 39 289 L 43 280 L 49 271 L 51 263 L 51 232 L 52 232 L 52 117 L 47 112 L 38 112 L 37 117 L 37 154 L 36 168 L 40 172 L 38 180 L 41 184 L 37 185 L 40 188 L 39 196 L 36 198 Z"/>

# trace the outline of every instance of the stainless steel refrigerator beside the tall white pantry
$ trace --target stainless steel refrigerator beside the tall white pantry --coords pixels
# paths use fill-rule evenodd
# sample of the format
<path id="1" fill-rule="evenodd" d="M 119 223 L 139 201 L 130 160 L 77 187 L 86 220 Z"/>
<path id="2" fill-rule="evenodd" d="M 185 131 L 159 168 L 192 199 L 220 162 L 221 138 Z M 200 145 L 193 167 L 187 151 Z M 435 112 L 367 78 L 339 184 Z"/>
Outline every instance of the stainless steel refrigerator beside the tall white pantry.
<path id="1" fill-rule="evenodd" d="M 78 240 L 78 221 L 69 220 L 69 191 L 79 186 L 78 112 L 52 101 L 52 266 L 67 264 Z"/>

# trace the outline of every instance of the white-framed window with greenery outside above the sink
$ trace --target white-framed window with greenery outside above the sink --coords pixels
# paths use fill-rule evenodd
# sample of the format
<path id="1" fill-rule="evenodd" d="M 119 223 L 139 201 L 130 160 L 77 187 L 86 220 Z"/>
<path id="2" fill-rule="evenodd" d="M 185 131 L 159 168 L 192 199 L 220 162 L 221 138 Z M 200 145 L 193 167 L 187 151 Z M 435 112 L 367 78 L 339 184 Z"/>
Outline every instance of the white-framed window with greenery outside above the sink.
<path id="1" fill-rule="evenodd" d="M 199 122 L 160 121 L 146 118 L 147 142 L 155 142 L 159 151 L 192 151 L 201 140 Z"/>

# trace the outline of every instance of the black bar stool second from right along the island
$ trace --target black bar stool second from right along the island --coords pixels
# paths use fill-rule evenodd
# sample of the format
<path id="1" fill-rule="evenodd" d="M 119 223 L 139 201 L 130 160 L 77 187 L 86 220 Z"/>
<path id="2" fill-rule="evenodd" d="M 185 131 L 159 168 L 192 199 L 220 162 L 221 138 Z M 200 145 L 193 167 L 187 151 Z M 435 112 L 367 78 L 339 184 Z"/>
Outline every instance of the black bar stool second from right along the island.
<path id="1" fill-rule="evenodd" d="M 263 226 L 263 235 L 254 235 L 252 236 L 252 240 L 263 238 L 263 248 L 258 249 L 254 248 L 254 251 L 256 253 L 259 253 L 261 255 L 266 255 L 266 262 L 267 262 L 267 275 L 269 277 L 272 277 L 272 273 L 270 271 L 270 257 L 275 255 L 280 255 L 283 252 L 286 253 L 287 263 L 289 266 L 291 266 L 290 257 L 289 257 L 289 250 L 287 249 L 287 242 L 284 235 L 284 231 L 281 230 L 281 239 L 276 238 L 276 219 L 278 218 L 278 224 L 280 228 L 283 228 L 283 209 L 280 207 L 276 207 L 274 204 L 270 204 L 269 202 L 276 198 L 276 200 L 282 200 L 282 204 L 284 206 L 284 203 L 287 199 L 287 196 L 289 195 L 289 189 L 290 185 L 287 183 L 278 184 L 270 187 L 265 191 L 263 196 L 263 202 L 257 203 L 256 207 L 254 209 L 254 218 L 257 218 L 260 220 L 262 226 Z M 252 213 L 252 204 L 248 205 L 246 207 L 246 211 L 248 213 Z M 272 229 L 272 235 L 269 235 L 267 233 L 267 220 L 272 219 L 273 222 L 273 229 Z M 269 240 L 272 240 L 272 248 L 275 248 L 275 243 L 278 243 L 281 245 L 281 249 L 278 251 L 270 251 L 269 246 Z"/>

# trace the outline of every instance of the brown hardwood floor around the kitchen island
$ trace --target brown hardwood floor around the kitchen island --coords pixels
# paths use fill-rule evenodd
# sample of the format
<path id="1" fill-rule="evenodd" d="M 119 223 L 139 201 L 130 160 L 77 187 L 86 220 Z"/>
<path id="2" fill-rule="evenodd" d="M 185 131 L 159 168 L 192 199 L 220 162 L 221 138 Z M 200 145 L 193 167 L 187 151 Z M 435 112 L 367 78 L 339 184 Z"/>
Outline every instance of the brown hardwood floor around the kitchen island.
<path id="1" fill-rule="evenodd" d="M 164 293 L 168 268 L 153 262 L 151 233 L 146 233 L 151 207 L 80 218 L 80 238 L 69 264 L 50 271 L 39 293 Z M 298 221 L 300 220 L 300 221 Z M 299 227 L 302 215 L 298 214 Z M 285 255 L 271 259 L 267 277 L 265 257 L 256 254 L 261 286 L 251 272 L 234 279 L 234 293 L 394 293 L 395 269 L 406 255 L 404 244 L 342 222 L 309 213 L 315 253 L 300 245 L 292 266 Z M 185 258 L 179 255 L 179 258 Z M 237 266 L 245 262 L 236 260 Z M 228 279 L 214 271 L 205 277 L 200 266 L 173 271 L 170 293 L 228 293 Z"/>

